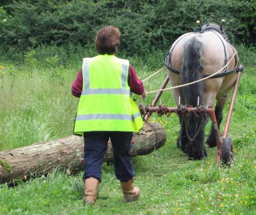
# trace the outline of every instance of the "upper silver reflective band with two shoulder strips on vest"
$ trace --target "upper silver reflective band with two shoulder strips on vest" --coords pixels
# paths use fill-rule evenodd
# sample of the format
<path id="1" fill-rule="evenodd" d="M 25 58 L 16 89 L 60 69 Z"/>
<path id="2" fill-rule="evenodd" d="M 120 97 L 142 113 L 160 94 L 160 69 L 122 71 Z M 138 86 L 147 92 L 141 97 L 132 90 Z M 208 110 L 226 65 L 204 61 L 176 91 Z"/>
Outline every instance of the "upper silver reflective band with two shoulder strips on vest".
<path id="1" fill-rule="evenodd" d="M 89 76 L 89 65 L 90 58 L 86 58 L 84 62 L 84 89 L 82 90 L 82 95 L 91 95 L 91 94 L 122 94 L 130 95 L 130 90 L 126 89 L 126 76 L 129 64 L 126 60 L 123 60 L 122 64 L 122 74 L 121 74 L 121 86 L 122 88 L 97 88 L 90 89 L 90 76 Z"/>

